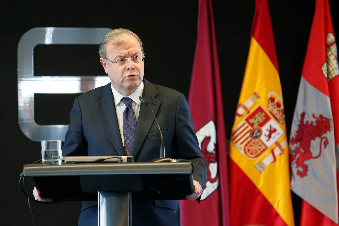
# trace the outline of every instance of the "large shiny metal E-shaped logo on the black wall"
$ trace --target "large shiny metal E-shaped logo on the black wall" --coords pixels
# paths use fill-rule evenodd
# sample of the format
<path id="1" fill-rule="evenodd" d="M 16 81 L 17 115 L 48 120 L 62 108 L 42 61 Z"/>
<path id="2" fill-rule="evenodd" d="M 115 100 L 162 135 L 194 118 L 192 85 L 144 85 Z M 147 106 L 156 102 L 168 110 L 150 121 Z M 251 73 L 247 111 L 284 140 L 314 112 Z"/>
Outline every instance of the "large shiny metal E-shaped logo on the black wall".
<path id="1" fill-rule="evenodd" d="M 33 141 L 64 141 L 68 125 L 39 125 L 34 120 L 35 93 L 84 93 L 109 82 L 108 76 L 34 76 L 33 51 L 39 44 L 100 44 L 112 29 L 83 27 L 35 27 L 18 44 L 18 123 Z"/>

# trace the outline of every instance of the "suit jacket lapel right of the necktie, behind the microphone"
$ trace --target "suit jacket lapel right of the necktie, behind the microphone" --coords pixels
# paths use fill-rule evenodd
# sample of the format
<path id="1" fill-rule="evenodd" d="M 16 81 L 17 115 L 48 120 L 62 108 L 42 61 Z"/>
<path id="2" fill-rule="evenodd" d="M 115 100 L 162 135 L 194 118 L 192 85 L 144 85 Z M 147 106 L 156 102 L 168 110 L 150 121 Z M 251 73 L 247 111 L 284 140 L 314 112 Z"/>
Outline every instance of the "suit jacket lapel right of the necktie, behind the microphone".
<path id="1" fill-rule="evenodd" d="M 147 81 L 145 78 L 144 81 L 144 90 L 142 92 L 142 97 L 149 101 L 149 105 L 152 107 L 154 115 L 156 116 L 158 113 L 158 109 L 160 107 L 161 101 L 155 99 L 155 97 L 159 94 L 155 86 Z M 137 123 L 137 129 L 135 131 L 134 142 L 132 147 L 132 155 L 135 157 L 137 153 L 140 151 L 146 136 L 149 133 L 154 122 L 154 117 L 149 106 L 146 106 L 143 102 L 140 105 L 139 118 Z M 160 147 L 159 147 L 160 148 Z"/>

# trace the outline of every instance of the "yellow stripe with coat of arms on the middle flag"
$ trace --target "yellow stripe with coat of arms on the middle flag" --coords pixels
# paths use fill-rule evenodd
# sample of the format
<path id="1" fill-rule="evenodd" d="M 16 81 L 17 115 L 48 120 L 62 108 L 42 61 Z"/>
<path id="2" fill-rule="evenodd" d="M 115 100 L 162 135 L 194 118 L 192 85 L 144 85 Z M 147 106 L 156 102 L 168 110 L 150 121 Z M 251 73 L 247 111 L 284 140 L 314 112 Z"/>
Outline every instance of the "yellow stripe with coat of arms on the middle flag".
<path id="1" fill-rule="evenodd" d="M 252 37 L 232 128 L 230 157 L 285 223 L 294 225 L 288 144 L 282 109 L 279 74 Z M 255 206 L 255 203 L 249 205 Z"/>

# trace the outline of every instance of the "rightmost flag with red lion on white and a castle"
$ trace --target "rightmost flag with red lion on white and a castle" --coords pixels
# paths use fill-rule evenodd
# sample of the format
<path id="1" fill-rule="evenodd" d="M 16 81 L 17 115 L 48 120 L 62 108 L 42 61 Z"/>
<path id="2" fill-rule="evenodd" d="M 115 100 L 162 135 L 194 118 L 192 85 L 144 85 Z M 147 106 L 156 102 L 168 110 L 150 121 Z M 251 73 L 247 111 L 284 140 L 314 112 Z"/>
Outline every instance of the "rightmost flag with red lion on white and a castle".
<path id="1" fill-rule="evenodd" d="M 301 226 L 338 225 L 339 68 L 327 0 L 316 0 L 290 134 Z M 338 157 L 338 156 L 337 156 Z"/>

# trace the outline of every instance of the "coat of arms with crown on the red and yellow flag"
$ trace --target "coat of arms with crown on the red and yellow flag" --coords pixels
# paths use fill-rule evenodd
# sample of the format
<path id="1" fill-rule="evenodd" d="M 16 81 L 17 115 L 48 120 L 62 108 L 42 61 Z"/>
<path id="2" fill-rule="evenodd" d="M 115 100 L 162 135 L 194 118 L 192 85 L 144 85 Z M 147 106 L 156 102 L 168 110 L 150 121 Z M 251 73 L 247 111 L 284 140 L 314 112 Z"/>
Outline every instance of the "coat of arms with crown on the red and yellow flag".
<path id="1" fill-rule="evenodd" d="M 251 103 L 253 105 L 255 102 L 251 101 Z M 277 93 L 270 92 L 267 95 L 267 110 L 257 105 L 252 111 L 242 113 L 242 116 L 245 113 L 247 115 L 232 131 L 232 142 L 244 156 L 255 160 L 273 145 L 276 146 L 261 162 L 255 164 L 255 167 L 262 173 L 267 165 L 276 161 L 276 156 L 284 153 L 287 147 L 286 139 L 282 143 L 278 142 L 284 134 L 280 125 L 285 124 L 282 98 Z"/>

